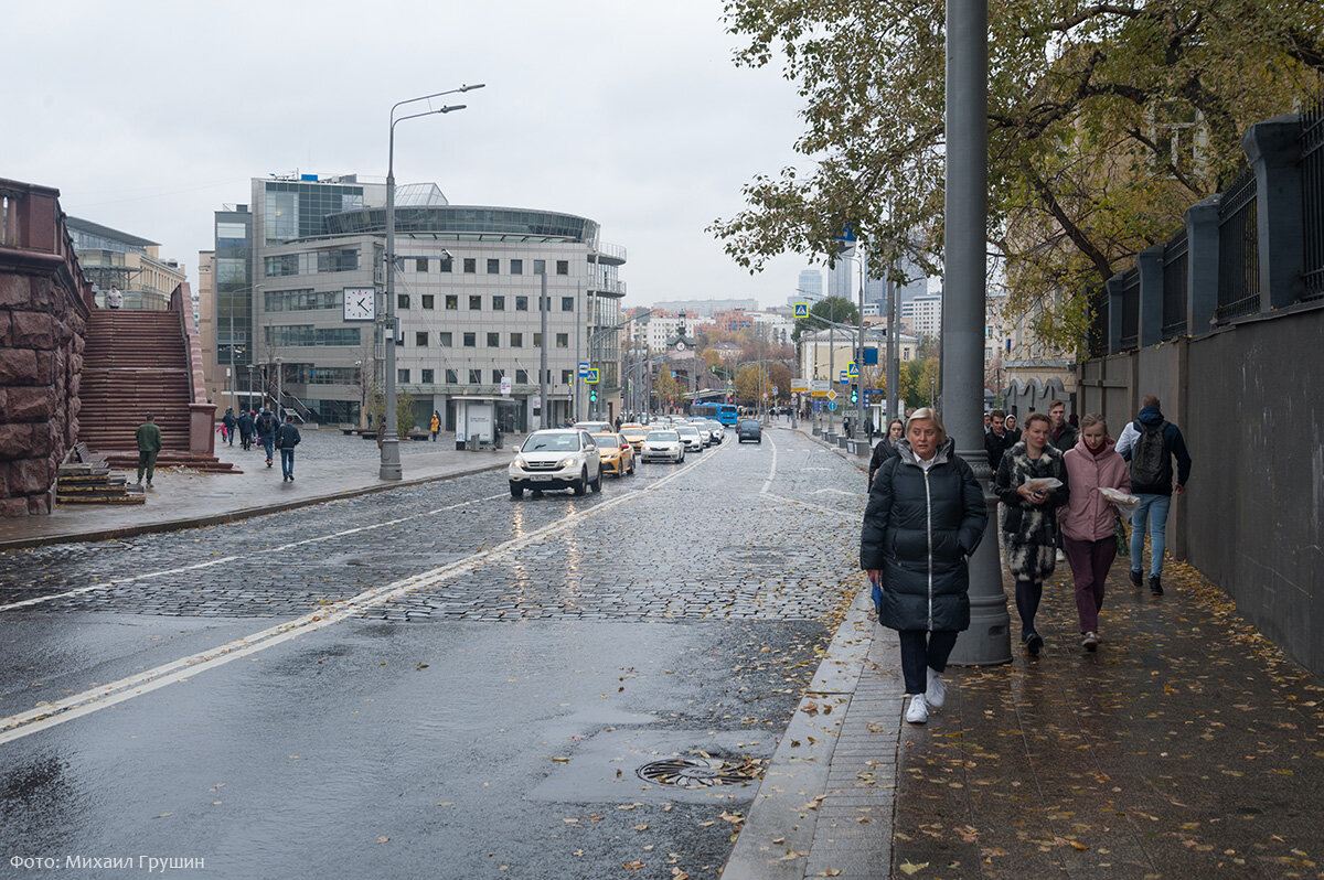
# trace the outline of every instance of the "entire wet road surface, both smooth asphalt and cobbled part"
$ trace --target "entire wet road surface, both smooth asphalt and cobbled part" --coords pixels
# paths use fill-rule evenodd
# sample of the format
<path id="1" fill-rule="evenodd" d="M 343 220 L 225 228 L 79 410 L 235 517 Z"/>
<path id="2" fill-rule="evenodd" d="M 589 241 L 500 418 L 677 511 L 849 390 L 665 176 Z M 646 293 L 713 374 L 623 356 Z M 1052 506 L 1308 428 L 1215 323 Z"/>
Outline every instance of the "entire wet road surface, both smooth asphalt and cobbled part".
<path id="1" fill-rule="evenodd" d="M 797 434 L 730 438 L 585 498 L 496 472 L 0 554 L 0 716 L 46 704 L 0 732 L 0 876 L 716 876 L 755 786 L 637 771 L 772 754 L 863 503 Z"/>

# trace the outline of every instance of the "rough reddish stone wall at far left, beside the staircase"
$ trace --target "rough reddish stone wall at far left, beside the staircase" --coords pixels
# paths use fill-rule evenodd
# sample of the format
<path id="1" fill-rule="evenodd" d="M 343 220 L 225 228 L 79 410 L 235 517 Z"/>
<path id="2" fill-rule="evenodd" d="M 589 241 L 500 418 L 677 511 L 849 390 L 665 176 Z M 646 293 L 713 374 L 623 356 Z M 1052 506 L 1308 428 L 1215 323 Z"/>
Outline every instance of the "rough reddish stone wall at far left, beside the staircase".
<path id="1" fill-rule="evenodd" d="M 78 435 L 91 291 L 57 197 L 0 180 L 0 516 L 50 512 Z"/>

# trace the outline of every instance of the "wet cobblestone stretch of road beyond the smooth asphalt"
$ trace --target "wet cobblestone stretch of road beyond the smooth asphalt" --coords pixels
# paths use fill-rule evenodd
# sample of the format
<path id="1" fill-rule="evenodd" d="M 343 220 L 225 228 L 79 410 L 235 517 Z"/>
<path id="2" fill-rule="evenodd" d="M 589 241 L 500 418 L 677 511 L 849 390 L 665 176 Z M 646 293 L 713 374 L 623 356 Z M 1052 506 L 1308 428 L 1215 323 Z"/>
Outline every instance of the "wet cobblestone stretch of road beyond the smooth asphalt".
<path id="1" fill-rule="evenodd" d="M 824 592 L 853 572 L 862 491 L 830 453 L 775 435 L 691 455 L 662 492 L 645 490 L 675 466 L 608 478 L 600 495 L 522 502 L 498 471 L 216 527 L 3 553 L 0 605 L 56 597 L 25 610 L 294 615 L 642 492 L 373 614 L 818 617 Z M 86 592 L 65 595 L 75 590 Z"/>

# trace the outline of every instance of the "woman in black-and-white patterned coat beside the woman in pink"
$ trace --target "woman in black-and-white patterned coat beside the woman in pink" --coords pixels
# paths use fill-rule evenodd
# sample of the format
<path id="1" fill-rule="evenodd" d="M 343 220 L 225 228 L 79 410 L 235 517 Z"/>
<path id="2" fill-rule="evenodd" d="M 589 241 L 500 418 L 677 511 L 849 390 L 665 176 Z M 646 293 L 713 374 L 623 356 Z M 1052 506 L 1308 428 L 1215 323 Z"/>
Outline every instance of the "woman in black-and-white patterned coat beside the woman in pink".
<path id="1" fill-rule="evenodd" d="M 996 422 L 994 422 L 996 423 Z M 1016 578 L 1016 610 L 1021 615 L 1021 643 L 1038 655 L 1043 638 L 1034 627 L 1034 615 L 1043 598 L 1043 582 L 1057 566 L 1057 508 L 1066 504 L 1067 471 L 1062 453 L 1049 445 L 1051 422 L 1043 413 L 1030 413 L 1025 439 L 1002 457 L 993 491 L 1006 507 L 1002 541 L 1006 565 Z M 1030 479 L 1055 478 L 1051 490 L 1030 488 Z"/>

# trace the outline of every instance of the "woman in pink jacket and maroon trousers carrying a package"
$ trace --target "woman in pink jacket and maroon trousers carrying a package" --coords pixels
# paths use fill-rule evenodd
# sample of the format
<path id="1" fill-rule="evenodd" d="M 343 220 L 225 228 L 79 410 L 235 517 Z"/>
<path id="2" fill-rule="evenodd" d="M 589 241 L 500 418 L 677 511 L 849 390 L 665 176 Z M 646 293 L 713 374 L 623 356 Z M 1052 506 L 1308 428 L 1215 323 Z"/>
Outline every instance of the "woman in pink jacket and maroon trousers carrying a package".
<path id="1" fill-rule="evenodd" d="M 1062 545 L 1075 577 L 1082 646 L 1099 647 L 1103 582 L 1117 556 L 1117 511 L 1100 488 L 1131 491 L 1127 462 L 1113 450 L 1103 416 L 1080 419 L 1080 439 L 1064 455 L 1071 496 L 1061 512 Z"/>

